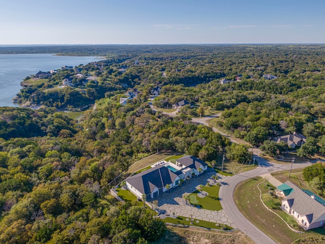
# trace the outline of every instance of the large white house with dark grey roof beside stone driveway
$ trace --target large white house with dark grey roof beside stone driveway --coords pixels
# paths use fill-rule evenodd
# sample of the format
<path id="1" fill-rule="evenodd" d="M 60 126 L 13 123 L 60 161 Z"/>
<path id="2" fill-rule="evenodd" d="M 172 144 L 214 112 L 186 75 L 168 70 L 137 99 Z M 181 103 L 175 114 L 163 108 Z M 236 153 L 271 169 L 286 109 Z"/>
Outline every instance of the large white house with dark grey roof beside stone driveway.
<path id="1" fill-rule="evenodd" d="M 138 198 L 146 195 L 154 198 L 169 188 L 180 185 L 181 180 L 190 179 L 207 170 L 207 164 L 193 156 L 185 156 L 176 160 L 176 164 L 166 161 L 155 163 L 151 169 L 128 177 L 126 188 Z"/>

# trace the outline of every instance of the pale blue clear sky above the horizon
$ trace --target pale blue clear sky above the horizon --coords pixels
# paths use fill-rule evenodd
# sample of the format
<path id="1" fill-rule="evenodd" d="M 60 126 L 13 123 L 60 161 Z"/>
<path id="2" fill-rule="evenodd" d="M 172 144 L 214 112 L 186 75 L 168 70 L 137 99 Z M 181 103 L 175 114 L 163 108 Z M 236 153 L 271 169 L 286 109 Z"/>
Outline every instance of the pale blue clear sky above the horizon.
<path id="1" fill-rule="evenodd" d="M 0 45 L 325 43 L 324 0 L 0 0 Z"/>

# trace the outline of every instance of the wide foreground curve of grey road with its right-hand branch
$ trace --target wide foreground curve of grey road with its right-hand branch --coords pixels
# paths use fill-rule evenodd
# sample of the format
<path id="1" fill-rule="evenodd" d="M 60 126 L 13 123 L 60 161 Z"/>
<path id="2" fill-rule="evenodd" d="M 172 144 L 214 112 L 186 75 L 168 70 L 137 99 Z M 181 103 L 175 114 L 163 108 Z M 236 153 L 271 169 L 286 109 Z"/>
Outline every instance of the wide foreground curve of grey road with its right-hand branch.
<path id="1" fill-rule="evenodd" d="M 290 164 L 275 164 L 266 161 L 263 158 L 258 156 L 254 156 L 256 160 L 260 163 L 260 165 L 250 171 L 234 175 L 232 177 L 224 180 L 223 186 L 220 187 L 219 198 L 221 199 L 221 206 L 225 213 L 229 216 L 229 218 L 236 224 L 238 229 L 244 232 L 247 236 L 249 236 L 256 243 L 263 244 L 274 244 L 269 236 L 267 236 L 264 232 L 255 227 L 251 222 L 249 222 L 243 214 L 237 208 L 233 194 L 235 191 L 235 187 L 243 180 L 248 178 L 253 178 L 261 174 L 266 174 L 275 171 L 288 170 L 290 168 Z M 294 164 L 293 169 L 295 168 L 303 168 L 311 165 L 311 163 L 299 163 Z"/>

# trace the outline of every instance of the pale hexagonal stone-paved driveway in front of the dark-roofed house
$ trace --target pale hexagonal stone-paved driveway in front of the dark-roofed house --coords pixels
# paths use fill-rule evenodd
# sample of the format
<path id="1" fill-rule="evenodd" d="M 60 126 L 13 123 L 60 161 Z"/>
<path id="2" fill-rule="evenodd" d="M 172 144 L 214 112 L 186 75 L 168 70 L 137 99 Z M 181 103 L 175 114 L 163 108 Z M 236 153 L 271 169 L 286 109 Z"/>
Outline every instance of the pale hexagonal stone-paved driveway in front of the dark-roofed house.
<path id="1" fill-rule="evenodd" d="M 160 194 L 155 198 L 158 200 L 158 208 L 160 211 L 160 218 L 166 218 L 167 216 L 173 217 L 182 216 L 185 218 L 192 218 L 194 220 L 204 220 L 208 222 L 226 224 L 232 228 L 237 228 L 236 225 L 229 219 L 225 212 L 221 209 L 219 211 L 213 211 L 203 208 L 194 207 L 193 205 L 186 204 L 183 199 L 184 194 L 190 194 L 197 190 L 197 186 L 206 185 L 207 182 L 213 183 L 211 176 L 215 174 L 215 171 L 205 172 L 199 177 L 193 177 L 182 183 L 182 186 L 173 188 L 163 194 Z M 218 174 L 219 182 L 222 187 L 222 181 L 225 176 Z"/>

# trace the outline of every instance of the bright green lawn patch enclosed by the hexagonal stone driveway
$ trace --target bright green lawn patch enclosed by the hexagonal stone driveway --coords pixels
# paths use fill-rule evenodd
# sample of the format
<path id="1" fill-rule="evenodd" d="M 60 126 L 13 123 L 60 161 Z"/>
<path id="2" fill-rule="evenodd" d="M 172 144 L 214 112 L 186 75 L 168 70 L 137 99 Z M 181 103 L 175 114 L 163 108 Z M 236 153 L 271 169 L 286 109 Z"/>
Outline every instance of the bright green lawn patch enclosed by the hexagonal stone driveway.
<path id="1" fill-rule="evenodd" d="M 195 191 L 189 194 L 189 202 L 191 204 L 199 205 L 201 208 L 204 209 L 219 211 L 222 209 L 219 201 L 219 189 L 220 187 L 218 186 L 211 186 L 211 187 L 205 186 L 203 187 L 203 191 L 207 192 L 208 195 L 201 198 L 197 196 L 198 193 L 200 193 L 200 191 Z M 198 203 L 194 201 L 195 199 L 198 201 Z"/>

